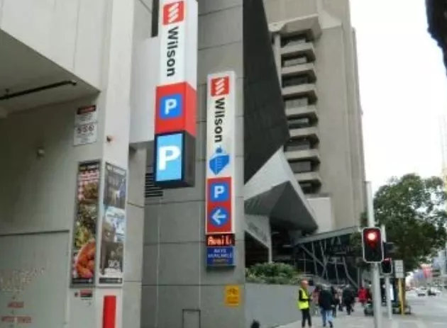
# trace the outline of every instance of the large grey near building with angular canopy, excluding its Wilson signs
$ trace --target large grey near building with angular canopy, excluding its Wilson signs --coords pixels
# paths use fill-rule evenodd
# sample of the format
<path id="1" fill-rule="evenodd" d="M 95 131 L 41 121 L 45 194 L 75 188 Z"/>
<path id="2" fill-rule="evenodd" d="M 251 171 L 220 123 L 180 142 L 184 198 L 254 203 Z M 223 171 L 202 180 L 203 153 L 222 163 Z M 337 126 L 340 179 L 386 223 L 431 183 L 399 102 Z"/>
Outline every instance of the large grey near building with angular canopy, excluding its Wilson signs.
<path id="1" fill-rule="evenodd" d="M 197 55 L 183 67 L 197 71 L 195 174 L 192 186 L 159 188 L 158 30 L 179 8 L 198 26 L 182 48 Z M 227 71 L 236 260 L 208 268 L 206 83 Z M 283 150 L 262 1 L 0 0 L 0 113 L 0 325 L 247 327 L 245 267 L 275 259 L 289 232 L 318 228 Z"/>

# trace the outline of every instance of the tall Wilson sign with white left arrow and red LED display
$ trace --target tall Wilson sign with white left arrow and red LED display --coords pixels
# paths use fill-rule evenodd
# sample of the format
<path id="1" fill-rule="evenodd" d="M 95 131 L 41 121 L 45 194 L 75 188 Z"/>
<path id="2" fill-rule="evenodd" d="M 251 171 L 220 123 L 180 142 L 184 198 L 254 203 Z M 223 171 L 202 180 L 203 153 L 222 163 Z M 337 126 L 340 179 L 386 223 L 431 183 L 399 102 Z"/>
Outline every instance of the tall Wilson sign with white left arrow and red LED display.
<path id="1" fill-rule="evenodd" d="M 234 266 L 234 72 L 209 74 L 206 123 L 206 264 Z"/>

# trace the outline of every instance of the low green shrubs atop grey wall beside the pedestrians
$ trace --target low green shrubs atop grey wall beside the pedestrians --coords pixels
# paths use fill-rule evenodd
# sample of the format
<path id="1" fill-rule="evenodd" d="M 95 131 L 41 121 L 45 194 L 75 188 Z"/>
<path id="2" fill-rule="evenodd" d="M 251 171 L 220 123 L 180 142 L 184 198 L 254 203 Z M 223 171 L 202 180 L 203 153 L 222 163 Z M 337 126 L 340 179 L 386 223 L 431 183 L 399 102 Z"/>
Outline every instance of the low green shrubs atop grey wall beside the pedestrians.
<path id="1" fill-rule="evenodd" d="M 245 269 L 248 283 L 267 283 L 272 285 L 297 285 L 301 276 L 297 270 L 284 263 L 260 263 Z"/>

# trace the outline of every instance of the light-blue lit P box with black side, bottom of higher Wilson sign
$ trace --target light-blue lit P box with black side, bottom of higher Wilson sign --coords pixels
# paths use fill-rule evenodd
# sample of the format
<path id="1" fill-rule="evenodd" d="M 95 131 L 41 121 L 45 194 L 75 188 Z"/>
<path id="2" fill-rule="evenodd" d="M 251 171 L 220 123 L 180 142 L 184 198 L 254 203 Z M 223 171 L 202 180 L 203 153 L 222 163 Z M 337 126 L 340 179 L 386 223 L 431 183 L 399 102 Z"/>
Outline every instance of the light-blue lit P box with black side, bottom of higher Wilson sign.
<path id="1" fill-rule="evenodd" d="M 195 180 L 195 138 L 187 132 L 155 136 L 155 183 L 162 188 L 191 186 Z"/>

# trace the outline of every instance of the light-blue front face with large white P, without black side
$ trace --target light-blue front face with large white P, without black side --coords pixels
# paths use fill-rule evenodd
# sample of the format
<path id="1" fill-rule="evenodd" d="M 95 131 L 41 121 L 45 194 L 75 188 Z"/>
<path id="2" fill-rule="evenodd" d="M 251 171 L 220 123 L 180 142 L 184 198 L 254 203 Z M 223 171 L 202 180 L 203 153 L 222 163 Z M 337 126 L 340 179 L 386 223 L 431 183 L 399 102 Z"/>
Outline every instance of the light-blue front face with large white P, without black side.
<path id="1" fill-rule="evenodd" d="M 155 182 L 177 181 L 183 176 L 183 135 L 158 135 L 155 152 Z"/>

